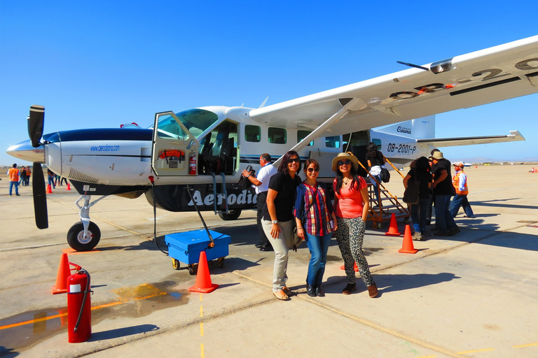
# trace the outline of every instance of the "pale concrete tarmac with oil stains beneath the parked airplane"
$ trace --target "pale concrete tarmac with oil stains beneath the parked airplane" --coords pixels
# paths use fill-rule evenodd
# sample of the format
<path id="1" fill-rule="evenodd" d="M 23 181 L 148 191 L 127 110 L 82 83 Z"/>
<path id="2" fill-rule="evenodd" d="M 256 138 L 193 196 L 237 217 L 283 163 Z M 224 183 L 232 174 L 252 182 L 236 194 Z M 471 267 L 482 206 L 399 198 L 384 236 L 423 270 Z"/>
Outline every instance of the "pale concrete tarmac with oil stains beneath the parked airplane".
<path id="1" fill-rule="evenodd" d="M 324 275 L 325 297 L 305 293 L 310 253 L 290 252 L 291 301 L 271 293 L 273 252 L 258 242 L 256 212 L 223 221 L 202 213 L 209 229 L 231 236 L 219 268 L 209 262 L 212 293 L 153 243 L 203 229 L 196 213 L 153 208 L 144 196 L 110 196 L 90 210 L 102 238 L 95 250 L 69 250 L 79 195 L 48 194 L 49 228 L 36 229 L 31 187 L 8 196 L 0 181 L 1 357 L 538 357 L 538 173 L 532 165 L 466 168 L 476 217 L 456 217 L 461 232 L 413 241 L 367 224 L 363 250 L 379 294 L 343 295 L 345 273 L 336 239 Z M 392 173 L 387 189 L 401 197 Z M 96 198 L 93 198 L 96 199 Z M 403 234 L 405 224 L 398 223 Z M 68 343 L 67 295 L 51 294 L 62 252 L 91 275 L 92 336 Z"/>

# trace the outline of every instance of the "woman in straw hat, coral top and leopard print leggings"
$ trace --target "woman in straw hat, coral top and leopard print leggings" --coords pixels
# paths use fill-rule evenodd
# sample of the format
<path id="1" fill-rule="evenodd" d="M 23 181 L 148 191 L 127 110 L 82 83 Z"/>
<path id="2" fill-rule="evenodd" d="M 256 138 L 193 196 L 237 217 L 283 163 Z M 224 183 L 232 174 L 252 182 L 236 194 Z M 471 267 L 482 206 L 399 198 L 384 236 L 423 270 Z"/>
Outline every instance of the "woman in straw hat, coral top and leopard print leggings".
<path id="1" fill-rule="evenodd" d="M 351 152 L 340 153 L 333 159 L 333 171 L 336 178 L 333 182 L 334 208 L 338 228 L 336 229 L 336 241 L 344 259 L 347 285 L 343 294 L 351 294 L 357 289 L 354 262 L 357 262 L 359 273 L 368 288 L 370 297 L 378 295 L 378 287 L 373 282 L 368 268 L 368 262 L 362 252 L 364 230 L 366 222 L 364 218 L 370 208 L 368 202 L 368 187 L 364 178 L 357 175 L 359 160 Z"/>

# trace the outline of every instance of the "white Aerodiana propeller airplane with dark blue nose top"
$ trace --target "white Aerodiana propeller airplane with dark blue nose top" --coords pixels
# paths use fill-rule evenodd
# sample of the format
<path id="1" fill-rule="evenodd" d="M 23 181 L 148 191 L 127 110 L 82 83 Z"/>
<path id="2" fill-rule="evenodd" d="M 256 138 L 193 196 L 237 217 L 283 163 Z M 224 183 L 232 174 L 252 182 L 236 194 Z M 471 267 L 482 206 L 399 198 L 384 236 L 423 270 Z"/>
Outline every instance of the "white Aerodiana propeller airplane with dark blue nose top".
<path id="1" fill-rule="evenodd" d="M 91 250 L 100 231 L 90 207 L 116 194 L 170 211 L 213 210 L 224 220 L 254 208 L 256 197 L 238 179 L 261 153 L 296 150 L 317 159 L 319 180 L 331 181 L 330 162 L 352 150 L 364 158 L 373 141 L 394 163 L 429 155 L 436 146 L 520 141 L 508 136 L 434 138 L 436 113 L 538 92 L 538 36 L 260 108 L 210 106 L 156 113 L 153 127 L 77 129 L 42 137 L 44 108 L 30 107 L 30 141 L 8 148 L 18 159 L 46 164 L 68 178 L 81 198 L 81 222 L 67 234 L 75 250 Z M 416 119 L 418 118 L 418 119 Z M 404 122 L 408 121 L 408 122 Z M 394 124 L 403 122 L 401 124 Z M 380 127 L 394 124 L 378 130 Z M 280 159 L 275 163 L 278 165 Z M 39 229 L 48 227 L 43 173 L 33 173 Z M 100 195 L 92 201 L 92 195 Z M 83 206 L 78 202 L 83 199 Z"/>

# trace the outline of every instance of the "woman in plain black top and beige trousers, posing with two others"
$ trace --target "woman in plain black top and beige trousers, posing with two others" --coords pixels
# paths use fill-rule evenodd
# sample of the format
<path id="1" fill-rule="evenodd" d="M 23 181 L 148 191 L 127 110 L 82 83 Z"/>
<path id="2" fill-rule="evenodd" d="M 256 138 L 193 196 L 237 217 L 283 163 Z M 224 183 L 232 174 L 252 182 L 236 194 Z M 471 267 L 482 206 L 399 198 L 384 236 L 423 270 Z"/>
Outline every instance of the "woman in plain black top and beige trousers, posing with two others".
<path id="1" fill-rule="evenodd" d="M 280 300 L 288 300 L 291 291 L 286 287 L 288 276 L 288 250 L 294 236 L 294 196 L 301 184 L 297 175 L 301 159 L 291 150 L 284 155 L 278 172 L 269 180 L 269 190 L 263 210 L 262 227 L 269 243 L 275 250 L 273 266 L 273 294 Z"/>

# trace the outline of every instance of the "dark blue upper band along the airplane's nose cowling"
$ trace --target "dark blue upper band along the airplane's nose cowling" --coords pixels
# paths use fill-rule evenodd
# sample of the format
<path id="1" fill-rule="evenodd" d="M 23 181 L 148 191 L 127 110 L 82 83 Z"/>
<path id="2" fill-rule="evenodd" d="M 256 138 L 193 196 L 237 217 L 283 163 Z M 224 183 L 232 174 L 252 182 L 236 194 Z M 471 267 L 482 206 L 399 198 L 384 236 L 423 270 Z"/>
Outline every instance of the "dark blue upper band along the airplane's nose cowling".
<path id="1" fill-rule="evenodd" d="M 94 128 L 74 129 L 45 134 L 43 140 L 50 143 L 75 141 L 151 141 L 153 129 L 140 128 Z"/>

